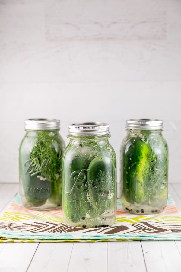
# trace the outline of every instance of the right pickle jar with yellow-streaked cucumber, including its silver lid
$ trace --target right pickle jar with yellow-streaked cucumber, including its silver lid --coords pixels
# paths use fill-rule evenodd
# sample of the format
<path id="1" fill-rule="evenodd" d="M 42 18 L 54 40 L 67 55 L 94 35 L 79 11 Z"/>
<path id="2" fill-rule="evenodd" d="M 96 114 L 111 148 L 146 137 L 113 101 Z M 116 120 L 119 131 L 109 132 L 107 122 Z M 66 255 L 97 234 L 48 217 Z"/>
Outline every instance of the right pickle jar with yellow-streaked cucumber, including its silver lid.
<path id="1" fill-rule="evenodd" d="M 168 197 L 168 147 L 162 136 L 163 121 L 126 121 L 121 145 L 121 202 L 126 212 L 163 211 Z"/>

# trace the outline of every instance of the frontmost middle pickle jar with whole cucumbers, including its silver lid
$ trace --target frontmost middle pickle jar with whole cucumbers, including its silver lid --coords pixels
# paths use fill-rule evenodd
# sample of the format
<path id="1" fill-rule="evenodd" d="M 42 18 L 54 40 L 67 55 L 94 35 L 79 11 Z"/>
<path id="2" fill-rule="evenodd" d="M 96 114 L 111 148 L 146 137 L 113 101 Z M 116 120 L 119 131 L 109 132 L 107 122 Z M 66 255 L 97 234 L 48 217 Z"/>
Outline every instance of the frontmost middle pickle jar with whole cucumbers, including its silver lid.
<path id="1" fill-rule="evenodd" d="M 69 125 L 62 160 L 63 214 L 67 225 L 100 228 L 116 219 L 116 154 L 105 123 Z"/>

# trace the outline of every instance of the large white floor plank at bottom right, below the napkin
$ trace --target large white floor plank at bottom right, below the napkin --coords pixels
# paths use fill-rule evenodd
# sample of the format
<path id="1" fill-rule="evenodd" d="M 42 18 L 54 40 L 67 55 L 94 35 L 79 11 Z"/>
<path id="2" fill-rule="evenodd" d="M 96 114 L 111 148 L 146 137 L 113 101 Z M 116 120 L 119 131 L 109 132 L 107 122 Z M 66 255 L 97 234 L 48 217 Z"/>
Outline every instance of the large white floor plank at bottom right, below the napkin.
<path id="1" fill-rule="evenodd" d="M 141 241 L 148 272 L 179 272 L 181 256 L 174 241 Z"/>

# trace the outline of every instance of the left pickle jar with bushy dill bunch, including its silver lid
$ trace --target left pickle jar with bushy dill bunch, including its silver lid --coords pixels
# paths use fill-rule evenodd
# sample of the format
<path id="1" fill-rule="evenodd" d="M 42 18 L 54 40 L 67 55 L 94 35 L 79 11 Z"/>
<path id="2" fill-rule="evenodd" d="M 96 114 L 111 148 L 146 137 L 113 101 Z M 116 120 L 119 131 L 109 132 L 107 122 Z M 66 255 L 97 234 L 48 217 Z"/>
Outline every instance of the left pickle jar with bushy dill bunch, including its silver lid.
<path id="1" fill-rule="evenodd" d="M 62 153 L 65 143 L 56 119 L 25 120 L 26 134 L 19 149 L 20 196 L 28 209 L 62 206 Z"/>

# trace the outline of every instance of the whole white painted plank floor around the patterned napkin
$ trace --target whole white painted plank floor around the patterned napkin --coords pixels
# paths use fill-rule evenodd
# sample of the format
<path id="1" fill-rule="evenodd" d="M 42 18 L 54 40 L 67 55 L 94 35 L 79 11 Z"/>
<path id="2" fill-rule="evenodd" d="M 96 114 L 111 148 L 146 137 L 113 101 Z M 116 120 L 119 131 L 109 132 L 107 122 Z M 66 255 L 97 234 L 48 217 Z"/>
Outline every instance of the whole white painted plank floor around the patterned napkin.
<path id="1" fill-rule="evenodd" d="M 0 184 L 0 210 L 17 191 L 18 184 Z M 181 209 L 181 184 L 169 193 Z M 180 272 L 181 241 L 0 243 L 0 271 Z"/>

